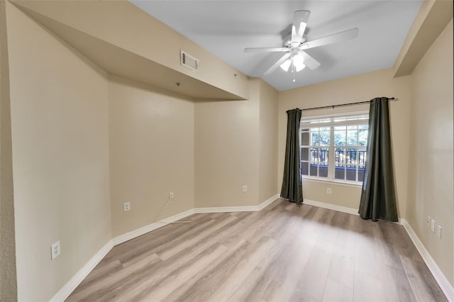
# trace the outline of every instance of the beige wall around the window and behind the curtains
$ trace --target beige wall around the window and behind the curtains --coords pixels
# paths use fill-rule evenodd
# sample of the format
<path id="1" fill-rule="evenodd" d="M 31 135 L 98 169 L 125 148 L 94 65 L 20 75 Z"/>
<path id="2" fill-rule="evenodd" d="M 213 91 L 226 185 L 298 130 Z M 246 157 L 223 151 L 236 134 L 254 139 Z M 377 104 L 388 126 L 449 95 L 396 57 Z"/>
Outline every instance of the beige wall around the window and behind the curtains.
<path id="1" fill-rule="evenodd" d="M 287 114 L 293 108 L 311 108 L 367 101 L 377 96 L 394 96 L 398 101 L 389 104 L 392 147 L 394 156 L 394 175 L 397 189 L 399 217 L 405 217 L 407 200 L 407 167 L 409 152 L 409 108 L 411 104 L 409 77 L 393 79 L 392 69 L 360 74 L 354 77 L 337 79 L 331 82 L 314 84 L 299 89 L 279 92 L 279 188 L 284 170 L 285 138 L 287 132 Z M 338 113 L 346 111 L 368 111 L 367 105 L 305 111 L 303 116 Z M 331 195 L 326 188 L 331 188 Z M 303 181 L 304 198 L 331 203 L 336 206 L 359 208 L 360 187 L 342 186 L 333 182 Z"/>

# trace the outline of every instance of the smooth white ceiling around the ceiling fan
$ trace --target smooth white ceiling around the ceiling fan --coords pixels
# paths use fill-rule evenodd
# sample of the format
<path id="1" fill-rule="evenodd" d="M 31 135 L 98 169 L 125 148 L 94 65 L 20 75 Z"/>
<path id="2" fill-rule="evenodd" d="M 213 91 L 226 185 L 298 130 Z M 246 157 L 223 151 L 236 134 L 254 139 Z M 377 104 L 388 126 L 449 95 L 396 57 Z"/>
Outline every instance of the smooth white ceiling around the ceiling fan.
<path id="1" fill-rule="evenodd" d="M 131 2 L 244 74 L 261 77 L 277 90 L 392 67 L 422 3 L 421 0 Z M 358 38 L 306 50 L 321 66 L 297 72 L 296 82 L 292 82 L 292 72 L 280 68 L 264 75 L 282 52 L 245 53 L 244 48 L 281 47 L 297 10 L 311 11 L 305 32 L 307 40 L 350 28 L 359 28 Z M 165 51 L 165 45 L 162 46 Z"/>

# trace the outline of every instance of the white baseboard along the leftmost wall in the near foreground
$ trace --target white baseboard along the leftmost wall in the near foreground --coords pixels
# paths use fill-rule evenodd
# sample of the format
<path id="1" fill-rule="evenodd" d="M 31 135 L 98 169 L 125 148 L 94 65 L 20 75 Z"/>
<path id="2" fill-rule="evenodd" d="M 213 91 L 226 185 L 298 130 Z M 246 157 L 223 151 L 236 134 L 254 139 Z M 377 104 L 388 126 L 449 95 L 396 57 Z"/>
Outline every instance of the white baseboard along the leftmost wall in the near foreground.
<path id="1" fill-rule="evenodd" d="M 109 242 L 104 245 L 104 247 L 99 250 L 99 252 L 96 253 L 92 257 L 92 259 L 89 259 L 89 262 L 82 267 L 82 269 L 75 274 L 70 281 L 65 284 L 65 286 L 60 289 L 57 293 L 55 293 L 55 296 L 53 296 L 50 301 L 51 302 L 62 302 L 65 301 L 68 296 L 76 289 L 77 286 L 88 276 L 90 272 L 92 272 L 92 269 L 96 267 L 96 265 L 107 255 L 107 253 L 114 247 L 112 244 L 112 240 L 109 240 Z"/>

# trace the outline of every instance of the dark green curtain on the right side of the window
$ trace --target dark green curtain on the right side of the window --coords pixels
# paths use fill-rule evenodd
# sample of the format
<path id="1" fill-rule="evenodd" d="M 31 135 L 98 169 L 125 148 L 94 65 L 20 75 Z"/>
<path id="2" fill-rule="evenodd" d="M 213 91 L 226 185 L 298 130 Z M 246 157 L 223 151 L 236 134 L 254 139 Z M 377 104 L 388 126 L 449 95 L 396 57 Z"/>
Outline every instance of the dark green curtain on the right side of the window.
<path id="1" fill-rule="evenodd" d="M 367 160 L 360 201 L 364 219 L 397 221 L 387 98 L 371 100 Z"/>

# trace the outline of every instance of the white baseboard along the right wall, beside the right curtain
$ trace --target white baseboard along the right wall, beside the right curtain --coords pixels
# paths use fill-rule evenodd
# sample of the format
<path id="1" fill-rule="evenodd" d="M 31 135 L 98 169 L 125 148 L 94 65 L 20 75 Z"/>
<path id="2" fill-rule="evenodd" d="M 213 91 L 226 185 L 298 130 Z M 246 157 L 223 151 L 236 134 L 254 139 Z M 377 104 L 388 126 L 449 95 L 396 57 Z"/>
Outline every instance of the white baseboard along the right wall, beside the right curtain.
<path id="1" fill-rule="evenodd" d="M 409 225 L 408 221 L 406 221 L 405 219 L 400 219 L 400 221 L 402 225 L 404 225 L 406 233 L 409 234 L 411 241 L 413 241 L 414 245 L 416 246 L 416 249 L 423 258 L 424 262 L 426 262 L 428 269 L 431 271 L 433 277 L 437 281 L 438 285 L 441 287 L 441 290 L 443 291 L 443 293 L 445 293 L 445 296 L 446 298 L 448 298 L 448 301 L 454 301 L 453 286 L 451 286 L 448 279 L 446 279 L 443 272 L 441 272 L 441 269 L 438 267 L 435 260 L 433 260 L 431 254 L 429 254 L 429 252 L 426 250 L 426 247 L 424 247 L 421 240 L 419 240 L 419 237 L 416 235 L 416 233 L 414 233 L 414 230 L 413 228 L 411 228 L 411 225 Z"/>

